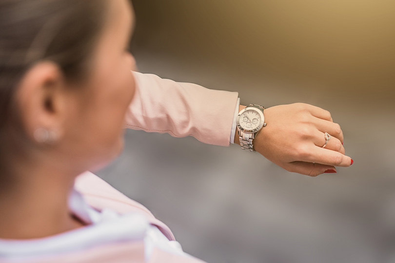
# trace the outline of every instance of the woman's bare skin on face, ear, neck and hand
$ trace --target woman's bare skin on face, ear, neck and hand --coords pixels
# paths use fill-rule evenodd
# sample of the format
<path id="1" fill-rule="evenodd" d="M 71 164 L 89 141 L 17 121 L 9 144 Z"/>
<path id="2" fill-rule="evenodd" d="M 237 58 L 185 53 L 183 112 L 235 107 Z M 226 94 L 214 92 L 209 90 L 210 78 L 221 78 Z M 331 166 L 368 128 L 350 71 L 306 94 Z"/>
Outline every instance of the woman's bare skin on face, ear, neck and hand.
<path id="1" fill-rule="evenodd" d="M 82 227 L 67 202 L 75 178 L 105 166 L 122 150 L 124 118 L 135 93 L 130 73 L 135 62 L 125 51 L 133 9 L 127 0 L 109 0 L 108 5 L 84 81 L 69 83 L 49 61 L 34 65 L 20 81 L 17 103 L 29 136 L 27 154 L 9 154 L 13 181 L 0 191 L 0 210 L 7 211 L 0 213 L 0 238 L 42 238 Z M 280 167 L 315 176 L 334 166 L 350 166 L 341 129 L 327 111 L 307 104 L 280 105 L 266 109 L 265 118 L 268 125 L 254 147 Z M 57 140 L 37 142 L 39 128 L 56 131 Z M 322 149 L 325 131 L 334 138 Z"/>

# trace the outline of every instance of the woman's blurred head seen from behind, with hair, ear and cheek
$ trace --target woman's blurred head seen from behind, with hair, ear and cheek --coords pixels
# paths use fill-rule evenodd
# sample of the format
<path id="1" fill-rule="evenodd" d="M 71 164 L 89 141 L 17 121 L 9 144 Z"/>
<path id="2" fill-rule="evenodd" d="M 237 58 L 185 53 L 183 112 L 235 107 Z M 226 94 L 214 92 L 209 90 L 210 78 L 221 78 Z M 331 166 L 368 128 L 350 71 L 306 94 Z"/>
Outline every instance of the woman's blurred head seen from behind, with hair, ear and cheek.
<path id="1" fill-rule="evenodd" d="M 0 1 L 1 169 L 95 169 L 119 154 L 132 20 L 127 0 Z"/>

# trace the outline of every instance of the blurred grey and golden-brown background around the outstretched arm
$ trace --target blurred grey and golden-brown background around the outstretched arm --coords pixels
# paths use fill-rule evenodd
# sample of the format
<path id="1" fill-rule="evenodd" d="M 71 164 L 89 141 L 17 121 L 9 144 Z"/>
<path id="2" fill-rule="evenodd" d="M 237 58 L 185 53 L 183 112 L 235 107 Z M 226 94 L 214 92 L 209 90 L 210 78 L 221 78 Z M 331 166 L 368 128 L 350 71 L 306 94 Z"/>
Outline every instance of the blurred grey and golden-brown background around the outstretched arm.
<path id="1" fill-rule="evenodd" d="M 395 262 L 395 2 L 133 0 L 139 71 L 329 110 L 355 163 L 310 178 L 238 145 L 129 130 L 100 177 L 210 263 Z"/>

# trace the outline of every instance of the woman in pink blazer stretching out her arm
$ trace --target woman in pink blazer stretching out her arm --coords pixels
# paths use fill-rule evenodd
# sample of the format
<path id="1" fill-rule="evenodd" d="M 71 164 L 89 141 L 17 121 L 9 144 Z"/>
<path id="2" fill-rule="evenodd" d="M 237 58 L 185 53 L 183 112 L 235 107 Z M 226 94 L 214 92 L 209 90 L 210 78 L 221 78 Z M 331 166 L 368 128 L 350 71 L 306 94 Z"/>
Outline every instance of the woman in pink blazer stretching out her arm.
<path id="1" fill-rule="evenodd" d="M 131 73 L 127 0 L 1 0 L 0 27 L 0 262 L 199 262 L 86 171 L 119 155 L 125 119 L 238 143 L 238 94 Z M 291 104 L 265 117 L 254 148 L 280 167 L 316 176 L 352 164 L 327 111 Z"/>

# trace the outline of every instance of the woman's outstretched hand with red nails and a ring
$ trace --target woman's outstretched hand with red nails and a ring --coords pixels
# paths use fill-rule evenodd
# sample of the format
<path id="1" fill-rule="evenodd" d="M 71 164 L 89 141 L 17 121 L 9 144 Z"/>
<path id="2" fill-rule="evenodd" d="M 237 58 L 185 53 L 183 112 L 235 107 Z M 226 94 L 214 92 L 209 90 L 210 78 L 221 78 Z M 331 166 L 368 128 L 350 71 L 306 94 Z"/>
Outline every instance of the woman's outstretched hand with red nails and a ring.
<path id="1" fill-rule="evenodd" d="M 240 110 L 245 106 L 240 105 Z M 331 114 L 321 108 L 294 103 L 264 110 L 266 127 L 254 139 L 254 150 L 276 165 L 309 176 L 349 167 L 344 155 L 343 132 Z M 325 148 L 325 132 L 332 135 Z M 238 143 L 238 136 L 235 143 Z M 332 170 L 332 171 L 331 171 Z"/>

